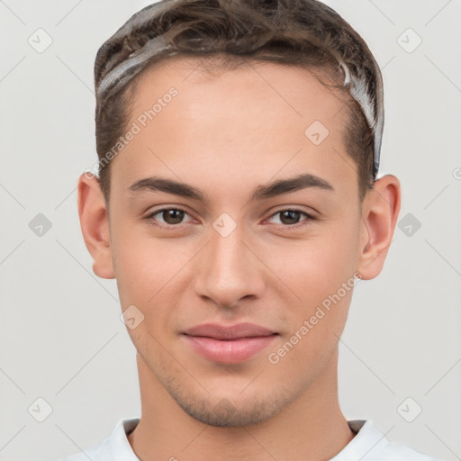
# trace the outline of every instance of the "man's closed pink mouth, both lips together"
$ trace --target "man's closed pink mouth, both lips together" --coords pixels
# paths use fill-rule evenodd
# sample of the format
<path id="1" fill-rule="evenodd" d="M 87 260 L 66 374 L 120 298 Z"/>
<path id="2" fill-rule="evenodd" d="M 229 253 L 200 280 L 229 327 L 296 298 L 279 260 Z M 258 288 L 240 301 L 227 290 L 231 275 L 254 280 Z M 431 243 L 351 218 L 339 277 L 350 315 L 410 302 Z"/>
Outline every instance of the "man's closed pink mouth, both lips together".
<path id="1" fill-rule="evenodd" d="M 239 364 L 258 355 L 279 336 L 253 323 L 226 326 L 197 325 L 183 333 L 190 348 L 200 356 L 221 364 Z"/>

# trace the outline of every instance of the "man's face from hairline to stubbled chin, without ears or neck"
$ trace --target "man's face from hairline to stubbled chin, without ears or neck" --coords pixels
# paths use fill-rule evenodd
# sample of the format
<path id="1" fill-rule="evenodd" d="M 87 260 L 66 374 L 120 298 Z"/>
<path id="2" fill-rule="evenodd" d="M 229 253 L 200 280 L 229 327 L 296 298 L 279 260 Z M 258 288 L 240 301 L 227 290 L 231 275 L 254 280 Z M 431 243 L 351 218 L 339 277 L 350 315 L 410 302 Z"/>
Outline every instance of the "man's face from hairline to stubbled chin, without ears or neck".
<path id="1" fill-rule="evenodd" d="M 163 61 L 136 86 L 136 133 L 112 163 L 110 247 L 143 379 L 197 420 L 242 426 L 336 366 L 357 172 L 344 105 L 307 70 L 209 76 L 198 64 Z"/>

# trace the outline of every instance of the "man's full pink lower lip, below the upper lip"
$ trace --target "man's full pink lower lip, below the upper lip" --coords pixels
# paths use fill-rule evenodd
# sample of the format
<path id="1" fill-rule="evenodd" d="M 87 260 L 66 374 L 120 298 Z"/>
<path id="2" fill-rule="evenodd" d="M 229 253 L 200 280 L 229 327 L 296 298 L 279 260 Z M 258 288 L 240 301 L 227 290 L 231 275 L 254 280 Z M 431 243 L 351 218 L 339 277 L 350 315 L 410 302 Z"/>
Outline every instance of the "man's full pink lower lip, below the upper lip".
<path id="1" fill-rule="evenodd" d="M 267 348 L 278 335 L 259 336 L 257 338 L 213 339 L 203 336 L 185 335 L 185 339 L 201 356 L 221 364 L 239 364 L 255 357 Z"/>

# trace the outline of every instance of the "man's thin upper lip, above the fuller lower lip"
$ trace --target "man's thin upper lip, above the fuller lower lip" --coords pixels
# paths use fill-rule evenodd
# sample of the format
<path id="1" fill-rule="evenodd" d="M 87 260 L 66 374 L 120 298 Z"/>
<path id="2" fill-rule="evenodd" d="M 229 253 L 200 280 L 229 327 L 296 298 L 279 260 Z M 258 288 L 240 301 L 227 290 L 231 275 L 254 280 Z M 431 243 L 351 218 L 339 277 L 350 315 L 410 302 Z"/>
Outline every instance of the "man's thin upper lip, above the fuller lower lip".
<path id="1" fill-rule="evenodd" d="M 240 339 L 258 338 L 276 334 L 276 331 L 269 330 L 255 323 L 237 323 L 235 325 L 221 325 L 219 323 L 203 323 L 196 325 L 184 333 L 189 336 L 202 336 L 212 339 Z"/>

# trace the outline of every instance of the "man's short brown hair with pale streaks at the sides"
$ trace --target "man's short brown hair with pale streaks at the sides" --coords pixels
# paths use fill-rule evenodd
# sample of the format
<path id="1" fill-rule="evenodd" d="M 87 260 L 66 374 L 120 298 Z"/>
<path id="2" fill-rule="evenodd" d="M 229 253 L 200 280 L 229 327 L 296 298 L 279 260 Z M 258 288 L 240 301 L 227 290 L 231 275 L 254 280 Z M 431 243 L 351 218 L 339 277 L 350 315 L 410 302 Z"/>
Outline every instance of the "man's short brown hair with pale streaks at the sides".
<path id="1" fill-rule="evenodd" d="M 360 200 L 373 187 L 384 125 L 382 77 L 366 42 L 339 14 L 317 0 L 162 0 L 133 14 L 96 55 L 96 150 L 106 202 L 113 158 L 107 154 L 131 115 L 127 90 L 150 64 L 178 54 L 220 57 L 227 68 L 252 59 L 300 66 L 339 89 Z"/>

